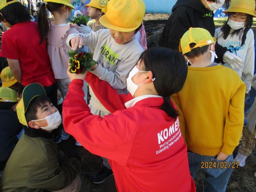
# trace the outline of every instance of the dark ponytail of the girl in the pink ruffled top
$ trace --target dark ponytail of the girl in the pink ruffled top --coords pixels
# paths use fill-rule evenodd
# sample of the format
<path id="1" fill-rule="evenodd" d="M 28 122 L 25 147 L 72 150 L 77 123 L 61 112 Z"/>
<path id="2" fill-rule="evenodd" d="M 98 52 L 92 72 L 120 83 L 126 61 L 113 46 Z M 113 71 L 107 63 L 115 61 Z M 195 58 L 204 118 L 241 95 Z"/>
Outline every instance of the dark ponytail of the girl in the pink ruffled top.
<path id="1" fill-rule="evenodd" d="M 41 5 L 38 12 L 38 29 L 41 37 L 40 44 L 43 43 L 43 41 L 47 38 L 47 34 L 51 28 L 51 26 L 49 25 L 50 20 L 46 12 L 46 6 L 47 6 L 47 3 L 44 2 Z"/>

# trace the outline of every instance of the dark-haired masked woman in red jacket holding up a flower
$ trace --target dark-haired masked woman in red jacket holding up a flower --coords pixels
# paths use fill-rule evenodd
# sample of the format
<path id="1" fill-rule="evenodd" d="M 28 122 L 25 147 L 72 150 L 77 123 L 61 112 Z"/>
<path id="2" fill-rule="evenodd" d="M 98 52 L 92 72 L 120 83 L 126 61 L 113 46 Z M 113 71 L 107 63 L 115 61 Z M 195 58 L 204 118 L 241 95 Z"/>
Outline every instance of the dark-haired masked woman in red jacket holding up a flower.
<path id="1" fill-rule="evenodd" d="M 127 79 L 131 94 L 126 98 L 134 98 L 125 103 L 126 109 L 104 118 L 91 114 L 83 99 L 84 75 L 68 75 L 72 82 L 63 103 L 65 130 L 91 153 L 108 158 L 117 191 L 195 191 L 178 114 L 170 100 L 187 75 L 179 52 L 166 48 L 143 52 Z M 100 82 L 104 83 L 95 81 Z M 102 97 L 109 103 L 122 100 L 116 90 L 99 88 L 108 91 Z"/>

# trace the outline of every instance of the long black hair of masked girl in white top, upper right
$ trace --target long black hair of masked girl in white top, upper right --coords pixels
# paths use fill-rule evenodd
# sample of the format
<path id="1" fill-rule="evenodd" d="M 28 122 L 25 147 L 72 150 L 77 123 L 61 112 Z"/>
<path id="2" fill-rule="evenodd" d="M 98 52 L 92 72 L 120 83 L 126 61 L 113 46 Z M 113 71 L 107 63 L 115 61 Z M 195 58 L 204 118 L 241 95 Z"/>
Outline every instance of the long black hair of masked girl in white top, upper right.
<path id="1" fill-rule="evenodd" d="M 234 12 L 228 13 L 227 21 L 221 27 L 221 32 L 222 32 L 222 35 L 223 35 L 224 39 L 227 39 L 228 35 L 230 34 L 231 27 L 227 24 L 227 22 L 229 21 L 230 15 L 232 15 L 233 13 Z M 252 25 L 253 25 L 253 16 L 247 14 L 247 19 L 246 19 L 244 28 L 234 30 L 231 33 L 231 37 L 233 37 L 233 35 L 239 35 L 240 46 L 243 46 L 244 43 L 245 43 L 245 40 L 246 40 L 246 34 L 247 34 L 247 32 L 249 31 L 249 29 L 251 28 Z"/>

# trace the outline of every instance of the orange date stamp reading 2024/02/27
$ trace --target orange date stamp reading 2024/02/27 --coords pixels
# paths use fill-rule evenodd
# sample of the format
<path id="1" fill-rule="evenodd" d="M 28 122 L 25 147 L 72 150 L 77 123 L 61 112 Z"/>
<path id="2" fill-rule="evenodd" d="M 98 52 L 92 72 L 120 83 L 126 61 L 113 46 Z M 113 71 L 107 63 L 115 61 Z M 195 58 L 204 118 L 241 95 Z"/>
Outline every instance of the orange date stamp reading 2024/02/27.
<path id="1" fill-rule="evenodd" d="M 230 162 L 225 162 L 225 161 L 221 161 L 221 162 L 207 162 L 207 161 L 202 161 L 201 162 L 201 169 L 237 169 L 239 165 L 239 161 L 230 161 Z"/>

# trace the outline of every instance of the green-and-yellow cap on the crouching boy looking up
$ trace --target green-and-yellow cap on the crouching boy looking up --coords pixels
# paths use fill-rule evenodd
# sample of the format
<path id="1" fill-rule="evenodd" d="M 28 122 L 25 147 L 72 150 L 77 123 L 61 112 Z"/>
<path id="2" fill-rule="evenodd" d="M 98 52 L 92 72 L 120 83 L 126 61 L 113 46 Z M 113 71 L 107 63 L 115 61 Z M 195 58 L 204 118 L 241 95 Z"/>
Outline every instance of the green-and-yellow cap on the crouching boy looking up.
<path id="1" fill-rule="evenodd" d="M 18 102 L 18 105 L 16 107 L 17 110 L 17 116 L 22 125 L 26 125 L 26 117 L 25 113 L 29 106 L 29 103 L 37 96 L 40 95 L 46 95 L 44 87 L 39 83 L 32 83 L 26 86 L 22 92 L 22 98 L 20 99 L 20 102 Z"/>

